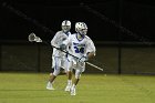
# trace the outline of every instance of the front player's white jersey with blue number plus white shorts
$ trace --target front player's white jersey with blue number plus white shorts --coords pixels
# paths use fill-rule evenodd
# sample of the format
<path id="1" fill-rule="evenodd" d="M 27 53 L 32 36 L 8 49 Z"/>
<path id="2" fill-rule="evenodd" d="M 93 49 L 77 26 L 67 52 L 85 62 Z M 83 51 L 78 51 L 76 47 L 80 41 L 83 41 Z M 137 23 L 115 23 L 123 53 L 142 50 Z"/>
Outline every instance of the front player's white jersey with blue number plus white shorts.
<path id="1" fill-rule="evenodd" d="M 68 40 L 63 43 L 70 47 L 69 53 L 81 59 L 83 55 L 86 55 L 89 52 L 95 52 L 95 47 L 93 41 L 84 35 L 82 40 L 79 40 L 78 34 L 71 34 Z M 79 59 L 68 54 L 68 69 L 72 71 L 72 69 L 80 70 L 80 72 L 84 72 L 85 62 L 78 62 Z"/>

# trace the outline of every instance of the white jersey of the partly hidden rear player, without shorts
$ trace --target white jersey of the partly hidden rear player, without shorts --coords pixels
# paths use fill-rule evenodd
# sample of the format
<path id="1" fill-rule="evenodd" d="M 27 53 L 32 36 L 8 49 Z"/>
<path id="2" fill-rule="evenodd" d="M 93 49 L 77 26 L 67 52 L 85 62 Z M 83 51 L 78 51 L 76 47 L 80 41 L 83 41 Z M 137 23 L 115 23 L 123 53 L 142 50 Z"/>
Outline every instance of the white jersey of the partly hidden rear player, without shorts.
<path id="1" fill-rule="evenodd" d="M 63 31 L 58 31 L 55 33 L 54 38 L 51 41 L 51 45 L 60 48 L 60 44 L 62 44 L 62 42 L 64 40 L 66 40 L 70 34 L 71 34 L 71 32 L 64 33 Z M 52 55 L 63 58 L 63 56 L 65 56 L 65 53 L 55 49 L 55 48 L 53 48 L 53 54 Z"/>

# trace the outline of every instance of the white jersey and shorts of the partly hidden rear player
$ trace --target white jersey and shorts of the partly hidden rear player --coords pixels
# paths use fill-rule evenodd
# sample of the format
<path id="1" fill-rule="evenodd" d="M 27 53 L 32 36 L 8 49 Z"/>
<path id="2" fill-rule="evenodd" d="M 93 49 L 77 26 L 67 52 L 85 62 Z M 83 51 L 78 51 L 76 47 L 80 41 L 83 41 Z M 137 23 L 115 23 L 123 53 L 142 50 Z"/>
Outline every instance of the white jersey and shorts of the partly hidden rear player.
<path id="1" fill-rule="evenodd" d="M 64 33 L 63 31 L 58 31 L 51 41 L 51 45 L 60 48 L 62 42 L 64 40 L 66 40 L 70 34 L 71 34 L 71 32 Z M 58 69 L 58 68 L 66 69 L 65 61 L 66 61 L 66 54 L 64 52 L 53 48 L 52 68 L 53 69 Z"/>

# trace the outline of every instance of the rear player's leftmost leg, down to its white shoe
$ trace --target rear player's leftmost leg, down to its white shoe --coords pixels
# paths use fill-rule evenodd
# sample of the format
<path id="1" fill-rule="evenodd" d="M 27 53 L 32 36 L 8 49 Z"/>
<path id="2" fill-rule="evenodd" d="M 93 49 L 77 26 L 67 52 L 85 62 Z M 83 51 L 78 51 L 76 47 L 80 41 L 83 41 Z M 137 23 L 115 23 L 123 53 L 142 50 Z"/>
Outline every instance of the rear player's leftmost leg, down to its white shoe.
<path id="1" fill-rule="evenodd" d="M 50 73 L 50 78 L 49 78 L 49 82 L 46 84 L 46 89 L 48 90 L 54 90 L 53 87 L 53 82 L 55 80 L 55 78 L 59 75 L 60 73 L 60 64 L 61 64 L 61 59 L 59 58 L 55 58 L 55 62 L 54 62 L 54 72 L 53 73 Z"/>

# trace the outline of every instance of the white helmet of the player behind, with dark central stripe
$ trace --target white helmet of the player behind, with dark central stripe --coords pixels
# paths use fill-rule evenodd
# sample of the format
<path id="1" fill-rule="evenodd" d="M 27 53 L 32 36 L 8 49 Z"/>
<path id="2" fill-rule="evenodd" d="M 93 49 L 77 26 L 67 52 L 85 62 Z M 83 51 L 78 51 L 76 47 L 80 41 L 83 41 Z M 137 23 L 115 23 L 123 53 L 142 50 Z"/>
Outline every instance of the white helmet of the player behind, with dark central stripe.
<path id="1" fill-rule="evenodd" d="M 69 20 L 62 21 L 61 28 L 63 32 L 69 32 L 71 29 L 71 21 Z"/>

